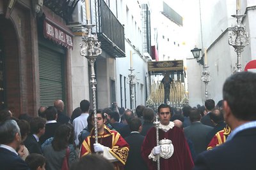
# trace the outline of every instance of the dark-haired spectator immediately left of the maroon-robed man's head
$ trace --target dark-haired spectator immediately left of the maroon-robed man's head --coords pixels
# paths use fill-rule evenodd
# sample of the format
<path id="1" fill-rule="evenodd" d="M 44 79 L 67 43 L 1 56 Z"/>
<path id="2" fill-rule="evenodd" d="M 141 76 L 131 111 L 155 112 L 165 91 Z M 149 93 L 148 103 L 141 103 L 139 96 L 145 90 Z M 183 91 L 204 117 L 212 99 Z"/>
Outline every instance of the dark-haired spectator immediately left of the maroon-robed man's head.
<path id="1" fill-rule="evenodd" d="M 142 129 L 140 134 L 142 134 L 143 136 L 146 136 L 148 130 L 151 127 L 154 127 L 154 117 L 155 117 L 155 113 L 154 110 L 152 110 L 152 108 L 145 108 L 145 110 L 143 110 L 143 119 L 144 122 L 142 124 Z"/>

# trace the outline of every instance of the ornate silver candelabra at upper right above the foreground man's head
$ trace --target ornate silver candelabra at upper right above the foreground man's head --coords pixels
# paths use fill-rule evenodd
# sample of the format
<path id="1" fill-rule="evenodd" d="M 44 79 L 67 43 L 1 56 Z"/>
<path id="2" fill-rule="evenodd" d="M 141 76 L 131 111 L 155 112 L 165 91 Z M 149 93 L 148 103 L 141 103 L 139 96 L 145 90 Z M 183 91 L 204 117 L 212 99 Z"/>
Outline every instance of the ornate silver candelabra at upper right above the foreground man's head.
<path id="1" fill-rule="evenodd" d="M 240 13 L 240 9 L 236 10 L 236 15 L 232 15 L 232 17 L 237 19 L 237 24 L 234 27 L 228 28 L 229 38 L 228 44 L 232 45 L 235 48 L 235 52 L 237 53 L 237 63 L 236 69 L 234 69 L 234 73 L 242 71 L 241 69 L 241 52 L 243 52 L 243 48 L 246 45 L 249 45 L 249 33 L 245 32 L 246 27 L 241 23 L 245 14 Z"/>

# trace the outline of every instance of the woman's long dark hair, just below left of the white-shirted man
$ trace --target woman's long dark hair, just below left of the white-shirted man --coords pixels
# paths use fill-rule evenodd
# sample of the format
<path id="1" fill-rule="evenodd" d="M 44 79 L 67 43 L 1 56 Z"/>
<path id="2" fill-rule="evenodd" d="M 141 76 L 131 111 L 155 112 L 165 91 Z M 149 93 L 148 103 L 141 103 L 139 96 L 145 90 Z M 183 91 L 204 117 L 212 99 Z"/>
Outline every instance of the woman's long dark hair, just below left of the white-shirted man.
<path id="1" fill-rule="evenodd" d="M 54 148 L 55 151 L 60 151 L 67 148 L 72 132 L 74 131 L 72 131 L 67 124 L 60 125 L 56 129 L 54 138 L 52 139 L 52 148 Z"/>

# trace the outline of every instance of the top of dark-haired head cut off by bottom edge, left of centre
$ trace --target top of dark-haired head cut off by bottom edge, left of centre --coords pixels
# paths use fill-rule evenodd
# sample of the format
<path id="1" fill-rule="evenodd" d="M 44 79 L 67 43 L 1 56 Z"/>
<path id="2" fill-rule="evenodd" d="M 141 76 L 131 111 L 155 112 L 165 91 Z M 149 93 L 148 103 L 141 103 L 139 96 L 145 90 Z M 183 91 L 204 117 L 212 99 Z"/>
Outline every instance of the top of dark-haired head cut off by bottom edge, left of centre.
<path id="1" fill-rule="evenodd" d="M 81 157 L 79 161 L 74 162 L 70 170 L 114 170 L 114 166 L 109 160 L 96 154 Z"/>

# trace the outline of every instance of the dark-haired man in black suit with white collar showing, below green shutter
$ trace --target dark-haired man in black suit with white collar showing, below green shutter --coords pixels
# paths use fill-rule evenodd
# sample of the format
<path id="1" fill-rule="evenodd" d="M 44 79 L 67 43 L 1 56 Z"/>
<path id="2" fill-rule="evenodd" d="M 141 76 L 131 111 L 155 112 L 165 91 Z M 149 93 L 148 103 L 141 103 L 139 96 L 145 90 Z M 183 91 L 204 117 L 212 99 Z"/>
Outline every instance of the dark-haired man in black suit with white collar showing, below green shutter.
<path id="1" fill-rule="evenodd" d="M 45 124 L 45 133 L 40 137 L 41 145 L 49 138 L 53 137 L 56 129 L 61 125 L 57 122 L 57 110 L 54 106 L 50 106 L 45 111 L 46 124 Z"/>

